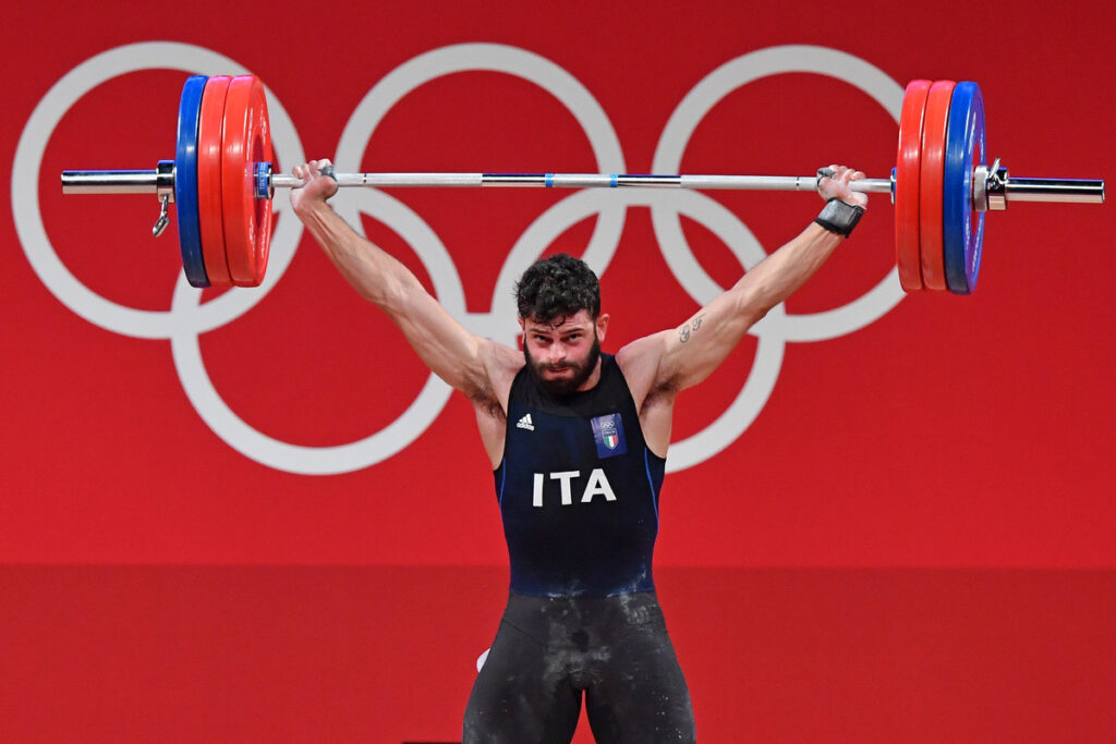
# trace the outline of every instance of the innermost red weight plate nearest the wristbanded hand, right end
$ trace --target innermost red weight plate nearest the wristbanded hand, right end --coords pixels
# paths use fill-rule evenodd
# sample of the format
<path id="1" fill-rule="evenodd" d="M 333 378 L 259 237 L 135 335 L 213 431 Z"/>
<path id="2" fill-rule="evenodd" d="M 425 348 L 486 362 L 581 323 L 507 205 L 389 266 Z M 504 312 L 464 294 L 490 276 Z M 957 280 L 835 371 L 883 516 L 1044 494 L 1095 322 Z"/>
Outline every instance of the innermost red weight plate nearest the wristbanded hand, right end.
<path id="1" fill-rule="evenodd" d="M 895 156 L 895 265 L 906 292 L 921 290 L 918 255 L 918 193 L 922 172 L 922 125 L 930 80 L 912 80 L 903 94 L 899 147 Z"/>

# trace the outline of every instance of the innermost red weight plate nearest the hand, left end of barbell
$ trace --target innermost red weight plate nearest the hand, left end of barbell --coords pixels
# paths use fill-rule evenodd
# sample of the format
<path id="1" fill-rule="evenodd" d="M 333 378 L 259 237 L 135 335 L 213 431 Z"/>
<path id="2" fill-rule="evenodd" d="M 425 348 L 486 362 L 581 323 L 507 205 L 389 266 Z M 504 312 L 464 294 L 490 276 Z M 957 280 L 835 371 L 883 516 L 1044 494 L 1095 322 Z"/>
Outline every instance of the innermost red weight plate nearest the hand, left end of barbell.
<path id="1" fill-rule="evenodd" d="M 272 161 L 263 85 L 251 75 L 232 78 L 224 104 L 221 194 L 224 249 L 238 287 L 259 287 L 271 242 L 271 201 L 256 199 L 253 166 Z"/>

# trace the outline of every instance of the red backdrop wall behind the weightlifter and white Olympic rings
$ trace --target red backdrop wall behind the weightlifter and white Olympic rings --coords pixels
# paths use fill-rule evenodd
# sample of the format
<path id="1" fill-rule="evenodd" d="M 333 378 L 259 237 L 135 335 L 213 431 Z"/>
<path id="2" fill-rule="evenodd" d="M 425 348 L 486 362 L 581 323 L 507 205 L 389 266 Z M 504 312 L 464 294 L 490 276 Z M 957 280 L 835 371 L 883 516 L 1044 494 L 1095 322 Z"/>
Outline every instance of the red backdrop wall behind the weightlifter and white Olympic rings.
<path id="1" fill-rule="evenodd" d="M 449 45 L 509 45 L 585 86 L 638 173 L 652 170 L 679 103 L 720 65 L 819 45 L 899 86 L 978 80 L 990 154 L 1012 173 L 1105 177 L 1116 161 L 1114 104 L 1097 85 L 1116 19 L 1099 9 L 203 2 L 9 13 L 0 709 L 10 741 L 454 741 L 507 583 L 491 474 L 460 396 L 375 464 L 330 475 L 268 466 L 203 419 L 167 334 L 95 325 L 40 279 L 31 258 L 45 249 L 17 231 L 35 216 L 19 197 L 29 172 L 18 147 L 51 86 L 96 55 L 155 40 L 219 52 L 263 78 L 272 118 L 281 104 L 302 152 L 318 156 L 338 151 L 357 105 L 401 65 Z M 64 199 L 57 173 L 173 157 L 187 57 L 152 58 L 152 69 L 94 87 L 32 158 L 49 250 L 127 308 L 170 310 L 181 281 L 174 236 L 146 232 L 155 200 Z M 856 87 L 781 74 L 725 96 L 682 171 L 805 174 L 838 161 L 886 176 L 894 143 L 894 119 Z M 360 158 L 346 165 L 598 170 L 554 96 L 494 71 L 416 88 Z M 392 195 L 445 245 L 482 323 L 511 312 L 492 292 L 517 240 L 570 194 Z M 818 209 L 801 194 L 710 197 L 767 251 Z M 285 201 L 279 229 L 291 220 Z M 373 211 L 362 225 L 430 286 L 414 247 L 382 220 Z M 583 252 L 595 224 L 570 224 L 547 250 Z M 741 265 L 729 248 L 708 225 L 683 225 L 705 271 L 731 283 Z M 912 296 L 848 332 L 786 341 L 754 421 L 668 476 L 657 578 L 703 741 L 1116 731 L 1113 226 L 1108 205 L 989 215 L 975 294 Z M 897 283 L 892 230 L 892 207 L 874 197 L 855 240 L 787 313 L 837 310 Z M 426 374 L 394 327 L 310 240 L 279 276 L 247 312 L 196 335 L 224 403 L 305 447 L 396 421 Z M 645 206 L 628 207 L 602 282 L 606 350 L 699 305 Z M 176 312 L 167 327 L 189 346 L 193 321 Z M 675 441 L 721 416 L 766 354 L 745 339 L 685 394 Z M 589 741 L 584 726 L 578 736 Z"/>

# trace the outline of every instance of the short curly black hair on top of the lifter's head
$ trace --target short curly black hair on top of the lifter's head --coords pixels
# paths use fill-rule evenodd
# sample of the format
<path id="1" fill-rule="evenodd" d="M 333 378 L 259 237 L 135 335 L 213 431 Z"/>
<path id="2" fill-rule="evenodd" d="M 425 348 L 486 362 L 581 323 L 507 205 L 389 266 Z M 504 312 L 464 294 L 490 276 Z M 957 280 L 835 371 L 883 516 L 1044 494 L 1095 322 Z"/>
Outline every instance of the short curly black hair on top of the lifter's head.
<path id="1" fill-rule="evenodd" d="M 558 253 L 540 259 L 516 282 L 520 318 L 561 323 L 588 310 L 594 320 L 600 315 L 600 282 L 580 259 Z"/>

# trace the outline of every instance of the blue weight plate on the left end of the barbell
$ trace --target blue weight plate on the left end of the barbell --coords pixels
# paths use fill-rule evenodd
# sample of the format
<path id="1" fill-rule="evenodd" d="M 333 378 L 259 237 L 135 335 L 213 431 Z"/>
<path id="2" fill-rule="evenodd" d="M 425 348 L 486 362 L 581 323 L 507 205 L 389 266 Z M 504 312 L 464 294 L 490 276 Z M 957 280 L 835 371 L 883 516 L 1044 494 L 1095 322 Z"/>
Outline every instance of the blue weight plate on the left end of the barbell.
<path id="1" fill-rule="evenodd" d="M 182 268 L 191 287 L 209 287 L 198 218 L 198 124 L 201 119 L 204 75 L 194 75 L 182 86 L 179 102 L 179 141 L 174 155 L 174 202 L 179 211 L 179 248 Z"/>

